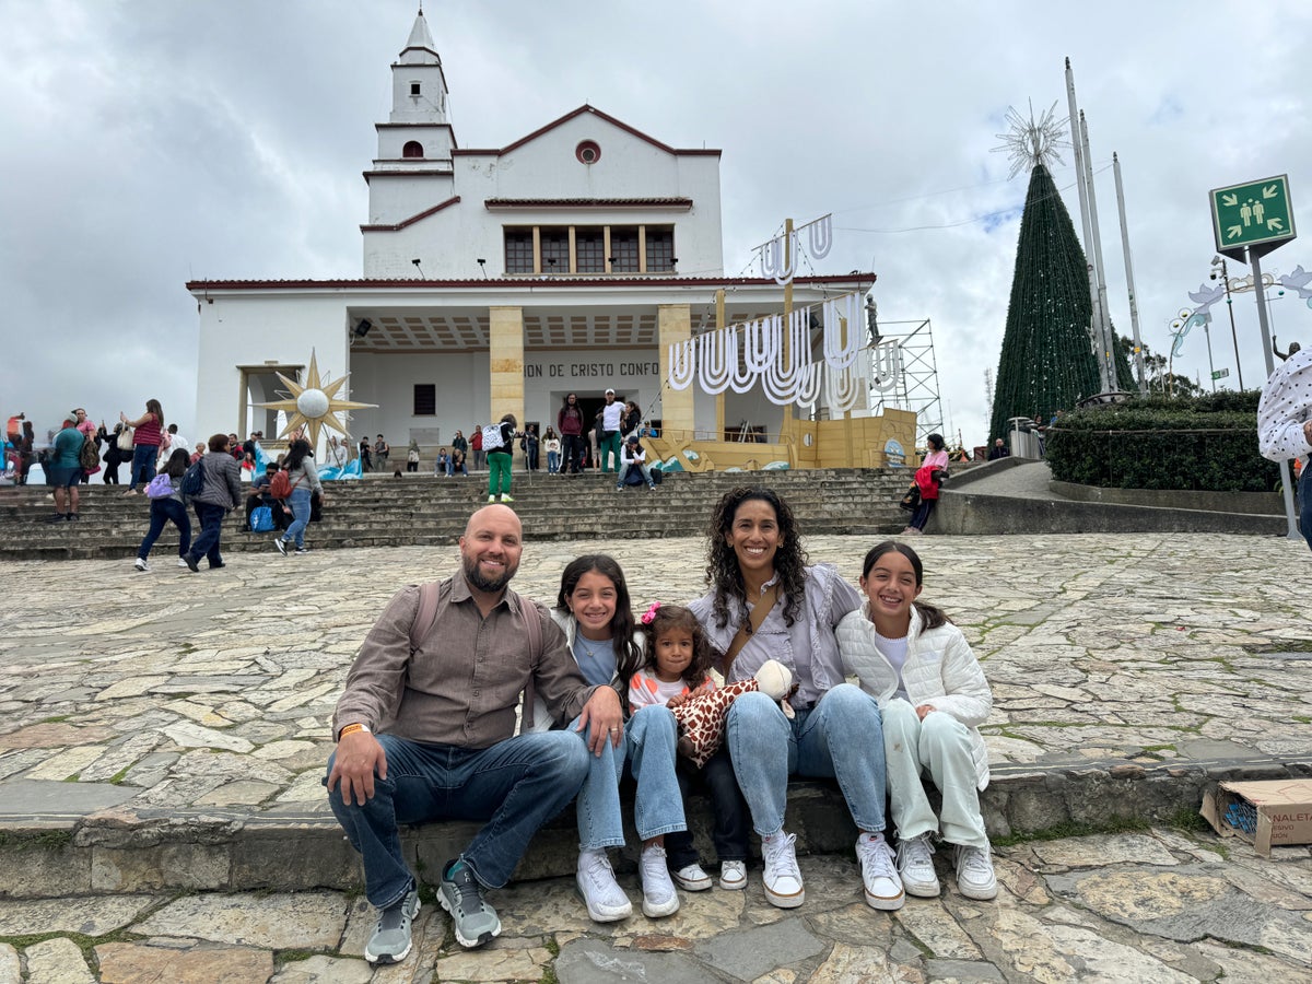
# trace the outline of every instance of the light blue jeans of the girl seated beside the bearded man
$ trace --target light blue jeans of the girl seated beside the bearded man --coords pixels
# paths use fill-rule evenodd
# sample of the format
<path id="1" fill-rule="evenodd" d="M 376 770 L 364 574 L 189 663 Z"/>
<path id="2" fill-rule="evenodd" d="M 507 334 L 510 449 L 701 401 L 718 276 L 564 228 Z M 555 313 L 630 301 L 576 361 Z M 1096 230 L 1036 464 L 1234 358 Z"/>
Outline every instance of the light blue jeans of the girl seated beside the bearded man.
<path id="1" fill-rule="evenodd" d="M 573 733 L 579 719 L 569 723 Z M 589 728 L 590 731 L 590 728 Z M 619 810 L 619 777 L 625 760 L 638 781 L 634 827 L 644 841 L 682 830 L 684 798 L 674 773 L 678 726 L 668 707 L 643 707 L 625 726 L 625 741 L 601 756 L 588 753 L 588 778 L 579 790 L 579 845 L 584 850 L 618 848 L 625 842 L 625 819 Z M 586 744 L 586 741 L 585 741 Z"/>

